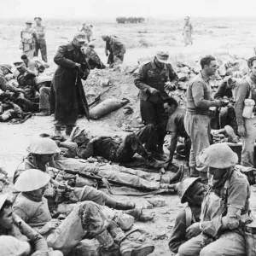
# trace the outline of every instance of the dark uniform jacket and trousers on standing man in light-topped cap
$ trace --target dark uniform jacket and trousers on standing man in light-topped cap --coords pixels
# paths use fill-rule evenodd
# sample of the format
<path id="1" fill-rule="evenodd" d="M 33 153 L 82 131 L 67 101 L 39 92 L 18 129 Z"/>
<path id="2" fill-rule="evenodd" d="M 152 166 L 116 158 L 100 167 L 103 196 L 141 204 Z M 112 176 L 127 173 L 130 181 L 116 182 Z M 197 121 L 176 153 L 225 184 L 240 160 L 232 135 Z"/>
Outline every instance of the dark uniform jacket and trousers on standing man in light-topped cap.
<path id="1" fill-rule="evenodd" d="M 137 78 L 134 81 L 140 90 L 140 108 L 143 123 L 156 126 L 160 147 L 164 143 L 168 119 L 164 109 L 164 100 L 169 97 L 165 90 L 165 84 L 168 81 L 177 79 L 177 74 L 174 72 L 171 64 L 165 64 L 160 69 L 154 61 L 150 61 L 139 69 Z M 148 91 L 150 87 L 158 90 L 158 93 L 155 95 L 150 94 Z M 148 149 L 150 150 L 151 148 Z"/>

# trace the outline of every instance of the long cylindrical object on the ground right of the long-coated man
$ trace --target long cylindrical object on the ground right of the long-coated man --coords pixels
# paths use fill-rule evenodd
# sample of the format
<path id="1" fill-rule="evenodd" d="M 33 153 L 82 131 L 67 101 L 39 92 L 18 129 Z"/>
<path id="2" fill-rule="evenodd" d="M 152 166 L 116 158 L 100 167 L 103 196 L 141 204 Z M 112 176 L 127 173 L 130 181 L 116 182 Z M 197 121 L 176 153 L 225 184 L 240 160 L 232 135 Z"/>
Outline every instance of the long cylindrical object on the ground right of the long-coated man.
<path id="1" fill-rule="evenodd" d="M 122 108 L 128 102 L 130 102 L 128 99 L 122 99 L 121 101 L 114 98 L 107 99 L 90 109 L 90 118 L 100 119 L 102 116 Z"/>

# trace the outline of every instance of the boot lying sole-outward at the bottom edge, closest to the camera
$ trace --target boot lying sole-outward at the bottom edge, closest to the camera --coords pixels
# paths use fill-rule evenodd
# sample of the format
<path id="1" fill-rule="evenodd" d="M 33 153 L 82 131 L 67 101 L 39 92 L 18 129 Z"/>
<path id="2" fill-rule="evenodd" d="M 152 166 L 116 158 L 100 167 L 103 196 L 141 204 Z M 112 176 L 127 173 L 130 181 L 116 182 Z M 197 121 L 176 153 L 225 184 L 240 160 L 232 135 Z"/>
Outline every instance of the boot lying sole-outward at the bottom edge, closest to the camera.
<path id="1" fill-rule="evenodd" d="M 153 252 L 154 245 L 152 244 L 139 244 L 128 239 L 125 239 L 120 244 L 121 256 L 147 256 Z"/>

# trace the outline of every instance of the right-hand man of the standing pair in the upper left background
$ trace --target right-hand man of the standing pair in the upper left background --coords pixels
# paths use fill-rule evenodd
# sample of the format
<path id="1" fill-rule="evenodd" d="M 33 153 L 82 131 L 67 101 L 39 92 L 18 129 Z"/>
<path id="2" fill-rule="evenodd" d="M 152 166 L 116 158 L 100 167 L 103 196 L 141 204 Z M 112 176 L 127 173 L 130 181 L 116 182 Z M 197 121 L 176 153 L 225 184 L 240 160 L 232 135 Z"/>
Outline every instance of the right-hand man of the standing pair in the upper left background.
<path id="1" fill-rule="evenodd" d="M 35 26 L 35 30 L 38 32 L 38 42 L 36 44 L 35 56 L 38 56 L 39 49 L 41 50 L 42 60 L 47 63 L 47 50 L 46 50 L 46 42 L 45 42 L 45 26 L 42 25 L 42 18 L 36 17 L 34 19 L 37 23 Z"/>

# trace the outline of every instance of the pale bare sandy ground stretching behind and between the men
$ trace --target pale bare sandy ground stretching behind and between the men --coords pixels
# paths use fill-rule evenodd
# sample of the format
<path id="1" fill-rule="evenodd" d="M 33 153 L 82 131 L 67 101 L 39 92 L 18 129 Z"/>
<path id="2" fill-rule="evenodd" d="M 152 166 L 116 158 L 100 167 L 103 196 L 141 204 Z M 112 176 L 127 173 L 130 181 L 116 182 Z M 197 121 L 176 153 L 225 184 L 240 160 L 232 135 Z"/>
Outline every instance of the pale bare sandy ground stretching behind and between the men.
<path id="1" fill-rule="evenodd" d="M 1 62 L 12 63 L 20 59 L 19 35 L 24 20 L 2 20 L 0 23 L 0 55 Z M 46 20 L 47 42 L 49 52 L 50 68 L 55 69 L 53 56 L 58 45 L 65 44 L 72 38 L 73 32 L 77 31 L 79 20 Z M 195 20 L 195 41 L 194 45 L 184 48 L 181 35 L 183 20 L 156 21 L 151 20 L 141 25 L 117 25 L 114 23 L 96 24 L 96 51 L 106 62 L 102 40 L 99 38 L 102 34 L 116 34 L 123 38 L 127 44 L 127 54 L 125 55 L 125 64 L 135 65 L 137 59 L 154 55 L 157 49 L 163 49 L 170 52 L 172 61 L 187 61 L 191 65 L 197 65 L 201 55 L 212 54 L 218 57 L 218 60 L 229 59 L 230 55 L 239 55 L 249 57 L 253 55 L 253 46 L 255 34 L 253 27 L 256 20 Z M 142 40 L 143 38 L 143 40 Z M 146 46 L 146 47 L 145 47 Z M 122 86 L 122 84 L 120 84 Z M 125 90 L 129 90 L 125 85 Z M 137 89 L 130 86 L 130 90 Z M 116 93 L 114 96 L 118 96 Z M 124 93 L 125 94 L 125 93 Z M 133 105 L 137 101 L 133 99 Z M 138 108 L 138 105 L 135 106 Z M 78 125 L 87 127 L 92 134 L 120 135 L 125 136 L 125 132 L 120 130 L 118 118 L 122 110 L 118 113 L 112 113 L 111 117 L 88 121 L 79 119 Z M 135 117 L 134 117 L 135 118 Z M 124 118 L 125 119 L 125 118 Z M 128 118 L 127 118 L 128 119 Z M 131 121 L 131 120 L 130 120 Z M 0 124 L 0 166 L 9 172 L 9 175 L 15 172 L 16 166 L 26 155 L 26 148 L 32 137 L 37 137 L 40 133 L 53 133 L 53 117 L 33 117 L 28 119 L 22 125 Z M 252 209 L 256 210 L 255 188 L 252 188 Z M 175 216 L 178 210 L 183 207 L 179 203 L 177 195 L 160 195 L 166 201 L 166 207 L 155 207 L 147 211 L 155 214 L 154 221 L 147 224 L 138 225 L 146 230 L 146 241 L 152 241 L 155 245 L 155 251 L 151 255 L 172 255 L 169 251 L 167 242 L 172 231 Z M 134 200 L 138 205 L 146 205 L 145 197 L 125 197 L 119 196 L 124 201 Z M 163 240 L 152 240 L 154 236 L 163 235 Z"/>

